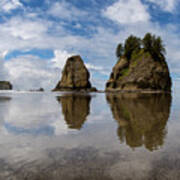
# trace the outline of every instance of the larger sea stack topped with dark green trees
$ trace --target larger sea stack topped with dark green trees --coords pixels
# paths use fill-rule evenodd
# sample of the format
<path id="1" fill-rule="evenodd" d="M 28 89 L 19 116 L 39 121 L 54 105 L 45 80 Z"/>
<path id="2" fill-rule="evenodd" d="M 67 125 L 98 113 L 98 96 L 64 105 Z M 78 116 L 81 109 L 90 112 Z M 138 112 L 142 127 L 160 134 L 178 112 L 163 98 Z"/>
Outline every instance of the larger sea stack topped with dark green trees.
<path id="1" fill-rule="evenodd" d="M 150 36 L 152 40 L 149 42 L 145 39 L 146 36 Z M 129 41 L 126 40 L 125 52 L 119 56 L 119 60 L 113 67 L 106 83 L 106 91 L 171 91 L 171 77 L 165 57 L 161 52 L 163 47 L 161 47 L 160 37 L 156 38 L 150 34 L 146 36 L 143 40 L 144 44 L 150 44 L 148 47 L 146 44 L 143 47 L 140 44 L 138 47 L 136 41 L 139 39 L 133 36 L 129 38 Z M 135 47 L 132 41 L 135 41 Z"/>

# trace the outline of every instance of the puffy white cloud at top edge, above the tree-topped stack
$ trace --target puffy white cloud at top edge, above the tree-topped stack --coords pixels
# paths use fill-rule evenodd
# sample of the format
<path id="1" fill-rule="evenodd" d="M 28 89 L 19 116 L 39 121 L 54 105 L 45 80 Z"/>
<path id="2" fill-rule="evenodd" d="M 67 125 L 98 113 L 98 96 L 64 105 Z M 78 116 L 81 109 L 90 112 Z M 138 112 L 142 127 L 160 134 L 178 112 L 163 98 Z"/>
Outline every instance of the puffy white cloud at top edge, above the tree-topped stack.
<path id="1" fill-rule="evenodd" d="M 140 0 L 119 0 L 109 6 L 103 14 L 120 24 L 147 22 L 150 15 Z"/>

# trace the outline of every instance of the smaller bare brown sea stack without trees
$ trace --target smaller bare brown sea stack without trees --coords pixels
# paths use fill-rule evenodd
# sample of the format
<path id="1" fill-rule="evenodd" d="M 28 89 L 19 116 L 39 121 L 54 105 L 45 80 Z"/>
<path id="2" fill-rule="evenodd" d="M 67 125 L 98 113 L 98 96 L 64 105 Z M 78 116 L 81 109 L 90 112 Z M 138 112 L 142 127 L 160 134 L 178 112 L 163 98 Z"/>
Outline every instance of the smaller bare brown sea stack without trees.
<path id="1" fill-rule="evenodd" d="M 54 91 L 85 90 L 96 91 L 91 87 L 90 74 L 80 56 L 72 56 L 67 59 L 62 72 L 61 81 Z"/>

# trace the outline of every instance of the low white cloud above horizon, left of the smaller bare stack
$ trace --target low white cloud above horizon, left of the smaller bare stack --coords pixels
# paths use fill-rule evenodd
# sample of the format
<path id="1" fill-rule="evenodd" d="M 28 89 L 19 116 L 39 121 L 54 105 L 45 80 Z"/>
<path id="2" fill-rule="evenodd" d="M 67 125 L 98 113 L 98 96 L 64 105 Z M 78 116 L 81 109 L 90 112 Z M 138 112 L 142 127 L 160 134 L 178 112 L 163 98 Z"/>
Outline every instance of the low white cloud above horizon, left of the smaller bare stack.
<path id="1" fill-rule="evenodd" d="M 59 70 L 52 63 L 35 56 L 24 56 L 4 62 L 9 80 L 15 89 L 53 89 L 59 80 Z"/>

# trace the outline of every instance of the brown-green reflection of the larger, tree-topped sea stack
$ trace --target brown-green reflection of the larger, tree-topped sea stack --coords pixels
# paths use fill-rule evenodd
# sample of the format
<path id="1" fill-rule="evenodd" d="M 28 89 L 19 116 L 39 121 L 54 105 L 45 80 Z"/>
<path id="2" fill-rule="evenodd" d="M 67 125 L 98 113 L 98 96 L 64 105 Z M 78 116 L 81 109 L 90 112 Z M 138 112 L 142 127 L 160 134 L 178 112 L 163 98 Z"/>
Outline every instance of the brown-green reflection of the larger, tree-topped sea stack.
<path id="1" fill-rule="evenodd" d="M 158 149 L 164 143 L 169 118 L 169 94 L 107 95 L 114 119 L 119 124 L 118 136 L 131 148 L 144 145 Z"/>

